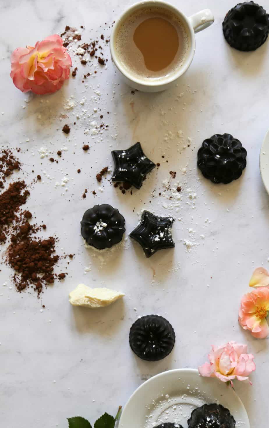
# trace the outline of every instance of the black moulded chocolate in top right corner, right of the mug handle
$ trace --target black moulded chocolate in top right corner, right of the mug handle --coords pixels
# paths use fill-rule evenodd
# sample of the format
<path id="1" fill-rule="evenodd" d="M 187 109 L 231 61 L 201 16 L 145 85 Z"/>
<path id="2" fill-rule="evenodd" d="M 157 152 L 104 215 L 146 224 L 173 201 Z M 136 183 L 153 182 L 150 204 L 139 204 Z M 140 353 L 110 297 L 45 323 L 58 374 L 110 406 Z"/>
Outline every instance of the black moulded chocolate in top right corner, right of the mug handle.
<path id="1" fill-rule="evenodd" d="M 253 1 L 238 3 L 222 23 L 223 34 L 232 48 L 254 51 L 266 41 L 269 33 L 269 15 Z"/>

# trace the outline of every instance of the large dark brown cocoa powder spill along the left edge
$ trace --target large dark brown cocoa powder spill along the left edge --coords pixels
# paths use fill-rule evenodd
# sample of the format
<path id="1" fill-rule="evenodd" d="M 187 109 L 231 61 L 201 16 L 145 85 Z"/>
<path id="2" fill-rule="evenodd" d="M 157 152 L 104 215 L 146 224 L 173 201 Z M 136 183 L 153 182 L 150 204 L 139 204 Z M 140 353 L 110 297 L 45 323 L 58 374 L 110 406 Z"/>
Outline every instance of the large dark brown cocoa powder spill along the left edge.
<path id="1" fill-rule="evenodd" d="M 4 156 L 4 162 L 10 166 L 10 171 L 14 166 L 20 166 L 9 151 Z M 0 168 L 0 173 L 2 171 Z M 41 179 L 39 175 L 37 178 Z M 47 284 L 52 284 L 55 278 L 64 279 L 66 273 L 53 273 L 54 265 L 59 260 L 59 256 L 55 254 L 58 238 L 38 237 L 37 232 L 44 231 L 46 225 L 30 224 L 32 213 L 21 208 L 29 196 L 30 191 L 24 180 L 9 184 L 0 194 L 0 242 L 7 241 L 9 244 L 5 261 L 15 270 L 13 282 L 17 291 L 32 287 L 39 296 Z"/>

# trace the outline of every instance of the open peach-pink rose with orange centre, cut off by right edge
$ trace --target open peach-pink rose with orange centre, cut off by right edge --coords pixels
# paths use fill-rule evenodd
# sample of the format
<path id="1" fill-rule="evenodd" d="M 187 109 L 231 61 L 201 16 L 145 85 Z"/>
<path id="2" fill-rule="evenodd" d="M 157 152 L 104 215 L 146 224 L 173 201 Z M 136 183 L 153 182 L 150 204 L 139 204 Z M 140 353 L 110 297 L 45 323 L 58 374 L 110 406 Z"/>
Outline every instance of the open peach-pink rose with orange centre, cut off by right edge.
<path id="1" fill-rule="evenodd" d="M 242 297 L 238 321 L 245 330 L 250 330 L 257 339 L 269 335 L 266 316 L 269 311 L 269 288 L 261 287 Z"/>

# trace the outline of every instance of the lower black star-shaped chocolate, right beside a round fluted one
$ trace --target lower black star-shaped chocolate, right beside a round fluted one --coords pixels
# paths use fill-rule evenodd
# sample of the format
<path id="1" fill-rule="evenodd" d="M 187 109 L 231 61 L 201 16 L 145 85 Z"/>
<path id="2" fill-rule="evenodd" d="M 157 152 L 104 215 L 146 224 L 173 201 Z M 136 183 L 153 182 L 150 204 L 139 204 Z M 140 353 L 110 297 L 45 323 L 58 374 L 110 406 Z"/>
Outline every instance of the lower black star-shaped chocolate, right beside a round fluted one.
<path id="1" fill-rule="evenodd" d="M 141 221 L 130 233 L 143 248 L 146 257 L 151 257 L 158 250 L 174 248 L 171 235 L 173 217 L 157 217 L 149 211 L 143 211 Z"/>

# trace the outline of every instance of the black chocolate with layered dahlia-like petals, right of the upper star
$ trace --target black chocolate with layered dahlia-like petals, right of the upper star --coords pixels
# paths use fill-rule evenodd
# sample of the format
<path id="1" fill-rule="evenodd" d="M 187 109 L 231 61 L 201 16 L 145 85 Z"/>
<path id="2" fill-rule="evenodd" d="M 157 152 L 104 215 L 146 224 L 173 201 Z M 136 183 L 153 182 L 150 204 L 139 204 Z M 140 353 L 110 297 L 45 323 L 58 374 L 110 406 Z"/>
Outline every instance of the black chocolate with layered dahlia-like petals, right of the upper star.
<path id="1" fill-rule="evenodd" d="M 231 134 L 215 134 L 198 150 L 198 168 L 213 183 L 228 184 L 242 175 L 247 151 Z"/>

